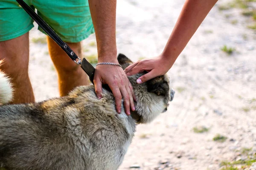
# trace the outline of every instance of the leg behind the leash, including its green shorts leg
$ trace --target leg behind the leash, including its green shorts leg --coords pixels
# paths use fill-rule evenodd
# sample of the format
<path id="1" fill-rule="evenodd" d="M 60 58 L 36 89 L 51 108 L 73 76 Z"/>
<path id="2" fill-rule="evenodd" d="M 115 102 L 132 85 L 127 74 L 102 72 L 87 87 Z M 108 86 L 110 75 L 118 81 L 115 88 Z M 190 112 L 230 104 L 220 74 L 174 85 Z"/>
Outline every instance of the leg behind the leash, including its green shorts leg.
<path id="1" fill-rule="evenodd" d="M 70 48 L 82 58 L 81 41 L 94 32 L 87 0 L 37 0 L 32 5 L 38 14 Z M 40 27 L 40 31 L 45 33 Z M 87 74 L 67 54 L 47 37 L 49 54 L 58 72 L 60 95 L 65 96 L 79 85 L 88 85 Z"/>

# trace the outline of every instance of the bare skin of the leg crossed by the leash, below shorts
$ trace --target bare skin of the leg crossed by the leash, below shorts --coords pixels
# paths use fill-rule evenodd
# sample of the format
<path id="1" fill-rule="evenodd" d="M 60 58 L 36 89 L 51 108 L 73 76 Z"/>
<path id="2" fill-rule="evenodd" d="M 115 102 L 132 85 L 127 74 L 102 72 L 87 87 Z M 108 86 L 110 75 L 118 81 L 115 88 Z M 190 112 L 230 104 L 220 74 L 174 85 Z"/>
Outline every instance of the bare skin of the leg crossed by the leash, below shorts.
<path id="1" fill-rule="evenodd" d="M 61 96 L 66 96 L 73 88 L 80 85 L 88 85 L 88 76 L 79 65 L 47 36 L 49 54 L 58 73 L 58 85 Z M 67 43 L 70 48 L 82 57 L 81 42 Z"/>

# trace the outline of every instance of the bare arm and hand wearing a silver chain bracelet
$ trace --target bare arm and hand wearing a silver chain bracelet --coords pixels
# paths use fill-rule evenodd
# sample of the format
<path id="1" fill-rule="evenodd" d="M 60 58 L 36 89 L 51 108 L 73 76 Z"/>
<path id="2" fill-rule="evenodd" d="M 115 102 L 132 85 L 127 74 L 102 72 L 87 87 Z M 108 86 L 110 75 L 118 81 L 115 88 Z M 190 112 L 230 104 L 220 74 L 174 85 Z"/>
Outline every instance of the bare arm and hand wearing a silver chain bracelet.
<path id="1" fill-rule="evenodd" d="M 95 29 L 98 62 L 118 64 L 116 52 L 116 0 L 89 0 L 90 13 Z M 100 99 L 102 84 L 108 84 L 116 101 L 116 110 L 120 113 L 122 97 L 125 100 L 125 113 L 134 108 L 133 89 L 122 68 L 114 65 L 98 65 L 94 76 L 96 95 Z"/>

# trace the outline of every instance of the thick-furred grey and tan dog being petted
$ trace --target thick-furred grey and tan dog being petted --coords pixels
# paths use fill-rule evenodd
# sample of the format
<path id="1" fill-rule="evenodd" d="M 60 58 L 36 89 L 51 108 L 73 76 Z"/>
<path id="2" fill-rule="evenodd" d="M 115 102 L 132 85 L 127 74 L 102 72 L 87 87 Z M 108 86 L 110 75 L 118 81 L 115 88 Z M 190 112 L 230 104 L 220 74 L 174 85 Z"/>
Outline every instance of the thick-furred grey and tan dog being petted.
<path id="1" fill-rule="evenodd" d="M 132 62 L 123 54 L 119 64 Z M 131 116 L 115 109 L 111 91 L 102 99 L 93 85 L 67 96 L 17 105 L 0 105 L 0 167 L 6 170 L 116 170 L 131 144 L 136 124 L 167 110 L 175 92 L 167 75 L 137 84 L 145 73 L 128 77 L 137 102 Z M 0 102 L 11 99 L 9 79 L 0 72 Z"/>

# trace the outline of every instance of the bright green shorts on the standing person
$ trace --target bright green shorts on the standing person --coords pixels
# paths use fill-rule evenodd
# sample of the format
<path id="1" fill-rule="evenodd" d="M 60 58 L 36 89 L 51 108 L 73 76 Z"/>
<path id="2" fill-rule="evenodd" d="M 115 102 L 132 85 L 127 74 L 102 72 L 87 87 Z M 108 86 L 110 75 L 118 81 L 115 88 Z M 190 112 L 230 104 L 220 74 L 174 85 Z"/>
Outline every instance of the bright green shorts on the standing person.
<path id="1" fill-rule="evenodd" d="M 16 0 L 0 0 L 0 41 L 11 40 L 34 27 Z M 80 42 L 94 33 L 88 0 L 24 0 L 65 42 Z M 45 32 L 38 27 L 44 34 Z"/>

